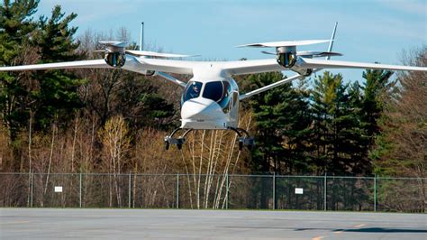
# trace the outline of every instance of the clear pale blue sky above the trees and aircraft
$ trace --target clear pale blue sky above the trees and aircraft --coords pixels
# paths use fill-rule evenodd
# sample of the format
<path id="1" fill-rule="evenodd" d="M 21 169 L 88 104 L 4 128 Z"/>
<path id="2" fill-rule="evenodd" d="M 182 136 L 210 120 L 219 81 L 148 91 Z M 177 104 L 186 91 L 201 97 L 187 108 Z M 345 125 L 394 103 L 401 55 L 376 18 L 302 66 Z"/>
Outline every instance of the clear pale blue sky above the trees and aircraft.
<path id="1" fill-rule="evenodd" d="M 401 64 L 403 50 L 427 44 L 427 0 L 42 0 L 37 14 L 49 16 L 54 5 L 78 14 L 73 22 L 77 35 L 124 26 L 139 42 L 144 22 L 146 43 L 163 51 L 200 54 L 200 60 L 270 58 L 259 49 L 234 46 L 329 39 L 335 22 L 339 25 L 334 51 L 344 54 L 340 60 Z M 318 44 L 298 50 L 326 49 L 327 44 Z M 362 70 L 332 72 L 359 80 Z"/>

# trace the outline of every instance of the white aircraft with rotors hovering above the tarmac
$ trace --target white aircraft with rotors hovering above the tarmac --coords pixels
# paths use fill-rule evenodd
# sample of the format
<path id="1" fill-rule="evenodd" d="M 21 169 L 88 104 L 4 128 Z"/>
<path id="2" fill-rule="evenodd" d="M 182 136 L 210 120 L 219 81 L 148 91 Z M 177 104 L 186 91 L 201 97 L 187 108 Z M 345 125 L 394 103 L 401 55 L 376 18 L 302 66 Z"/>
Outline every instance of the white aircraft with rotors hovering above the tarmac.
<path id="1" fill-rule="evenodd" d="M 251 148 L 254 139 L 244 129 L 238 127 L 239 102 L 271 88 L 276 88 L 297 78 L 305 78 L 321 69 L 390 69 L 427 71 L 425 67 L 373 64 L 330 60 L 332 56 L 341 56 L 332 52 L 337 23 L 330 40 L 261 42 L 239 47 L 275 48 L 275 59 L 237 60 L 237 61 L 190 61 L 169 60 L 186 58 L 189 55 L 160 53 L 154 51 L 126 50 L 126 42 L 104 41 L 104 60 L 79 60 L 70 62 L 35 64 L 25 66 L 0 67 L 0 71 L 37 70 L 37 69 L 126 69 L 147 76 L 166 78 L 184 88 L 181 97 L 181 126 L 165 137 L 165 147 L 169 144 L 182 148 L 185 136 L 195 129 L 232 130 L 239 135 L 239 148 L 243 145 Z M 297 46 L 329 42 L 328 51 L 296 51 Z M 325 57 L 323 60 L 314 59 Z M 239 93 L 239 87 L 232 78 L 235 75 L 261 73 L 269 71 L 293 70 L 297 74 L 273 84 Z M 188 82 L 173 78 L 168 73 L 192 75 Z M 179 130 L 179 137 L 174 137 Z"/>

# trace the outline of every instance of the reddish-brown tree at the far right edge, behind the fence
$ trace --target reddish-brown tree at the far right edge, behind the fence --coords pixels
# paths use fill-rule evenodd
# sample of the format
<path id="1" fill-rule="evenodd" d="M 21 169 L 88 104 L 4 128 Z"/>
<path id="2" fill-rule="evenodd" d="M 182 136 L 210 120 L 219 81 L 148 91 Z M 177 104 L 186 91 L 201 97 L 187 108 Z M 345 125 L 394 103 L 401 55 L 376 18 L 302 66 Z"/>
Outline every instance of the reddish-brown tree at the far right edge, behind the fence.
<path id="1" fill-rule="evenodd" d="M 427 66 L 427 48 L 404 53 L 405 64 Z M 427 73 L 405 72 L 385 96 L 377 119 L 379 133 L 369 152 L 377 175 L 413 177 L 416 180 L 387 180 L 378 189 L 378 202 L 385 209 L 425 213 L 427 199 Z M 390 198 L 393 196 L 393 198 Z"/>

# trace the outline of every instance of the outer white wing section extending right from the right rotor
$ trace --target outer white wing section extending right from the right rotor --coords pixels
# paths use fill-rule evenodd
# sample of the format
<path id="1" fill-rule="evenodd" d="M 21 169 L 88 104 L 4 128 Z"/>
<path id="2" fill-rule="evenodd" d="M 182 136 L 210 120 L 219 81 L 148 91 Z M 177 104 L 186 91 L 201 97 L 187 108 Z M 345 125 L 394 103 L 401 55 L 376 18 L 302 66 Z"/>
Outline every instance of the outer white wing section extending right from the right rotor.
<path id="1" fill-rule="evenodd" d="M 304 63 L 302 64 L 302 67 L 307 69 L 388 69 L 388 70 L 427 71 L 426 67 L 388 65 L 388 64 L 343 61 L 343 60 L 314 60 L 314 59 L 303 59 L 303 60 L 304 60 Z"/>

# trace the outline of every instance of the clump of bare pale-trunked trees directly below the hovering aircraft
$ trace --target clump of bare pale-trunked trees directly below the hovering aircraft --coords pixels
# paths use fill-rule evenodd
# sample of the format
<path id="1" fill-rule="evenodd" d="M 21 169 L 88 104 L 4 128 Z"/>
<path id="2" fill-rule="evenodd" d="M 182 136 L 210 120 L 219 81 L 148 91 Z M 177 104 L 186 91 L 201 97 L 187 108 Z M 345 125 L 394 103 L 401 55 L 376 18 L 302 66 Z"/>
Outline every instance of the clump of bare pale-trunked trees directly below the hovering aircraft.
<path id="1" fill-rule="evenodd" d="M 240 127 L 249 129 L 250 113 L 243 113 Z M 224 208 L 231 181 L 229 174 L 244 171 L 237 135 L 231 131 L 203 130 L 189 134 L 183 149 L 191 208 Z M 227 185 L 228 184 L 228 185 Z M 195 203 L 195 206 L 193 206 Z"/>

